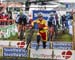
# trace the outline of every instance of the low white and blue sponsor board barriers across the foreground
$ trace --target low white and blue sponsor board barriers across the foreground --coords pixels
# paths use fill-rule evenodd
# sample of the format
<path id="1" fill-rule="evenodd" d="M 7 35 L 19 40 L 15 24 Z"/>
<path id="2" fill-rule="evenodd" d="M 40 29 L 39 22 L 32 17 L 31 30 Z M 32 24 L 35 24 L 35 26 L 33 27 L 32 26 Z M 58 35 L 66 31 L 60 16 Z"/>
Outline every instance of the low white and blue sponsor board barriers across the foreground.
<path id="1" fill-rule="evenodd" d="M 71 42 L 53 42 L 55 45 L 53 49 L 48 48 L 49 43 L 47 43 L 47 48 L 41 48 L 36 50 L 36 42 L 31 43 L 31 48 L 26 50 L 26 42 L 23 41 L 0 41 L 0 56 L 3 57 L 20 57 L 20 58 L 35 58 L 35 59 L 57 59 L 57 60 L 74 60 L 75 50 L 72 50 L 69 45 Z M 6 44 L 5 44 L 6 43 Z M 56 47 L 59 43 L 61 48 Z M 35 44 L 35 46 L 33 46 Z M 62 46 L 63 45 L 63 46 Z M 3 46 L 3 47 L 2 47 Z M 21 47 L 23 46 L 23 47 Z M 67 49 L 65 49 L 67 48 Z"/>

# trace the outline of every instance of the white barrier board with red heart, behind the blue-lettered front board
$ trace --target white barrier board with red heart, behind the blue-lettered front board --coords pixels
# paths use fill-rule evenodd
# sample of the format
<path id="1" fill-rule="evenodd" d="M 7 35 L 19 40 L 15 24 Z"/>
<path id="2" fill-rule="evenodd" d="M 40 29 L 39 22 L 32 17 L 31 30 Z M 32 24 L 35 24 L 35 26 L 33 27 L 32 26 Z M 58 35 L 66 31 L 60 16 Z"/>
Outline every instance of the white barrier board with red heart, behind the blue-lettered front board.
<path id="1" fill-rule="evenodd" d="M 24 41 L 0 41 L 1 47 L 26 48 L 27 44 Z"/>

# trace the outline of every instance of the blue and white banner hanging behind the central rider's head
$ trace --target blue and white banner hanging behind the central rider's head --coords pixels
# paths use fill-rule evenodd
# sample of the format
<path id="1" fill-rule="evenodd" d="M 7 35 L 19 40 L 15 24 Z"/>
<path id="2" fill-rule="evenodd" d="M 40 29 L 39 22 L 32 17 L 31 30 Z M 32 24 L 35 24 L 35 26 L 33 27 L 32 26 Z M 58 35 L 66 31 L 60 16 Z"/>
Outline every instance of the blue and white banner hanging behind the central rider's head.
<path id="1" fill-rule="evenodd" d="M 48 19 L 50 13 L 56 13 L 54 10 L 33 10 L 33 20 L 38 18 L 38 14 L 42 14 L 45 20 Z"/>

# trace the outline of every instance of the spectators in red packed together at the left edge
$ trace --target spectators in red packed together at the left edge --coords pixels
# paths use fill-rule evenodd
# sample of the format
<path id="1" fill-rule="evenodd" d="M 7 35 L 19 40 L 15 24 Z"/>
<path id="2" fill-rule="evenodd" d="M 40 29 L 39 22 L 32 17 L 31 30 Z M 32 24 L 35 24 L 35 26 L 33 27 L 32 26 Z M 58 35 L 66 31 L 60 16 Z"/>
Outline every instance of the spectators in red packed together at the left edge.
<path id="1" fill-rule="evenodd" d="M 0 13 L 0 25 L 8 25 L 12 23 L 13 19 L 11 11 L 8 11 L 7 13 L 5 12 Z"/>

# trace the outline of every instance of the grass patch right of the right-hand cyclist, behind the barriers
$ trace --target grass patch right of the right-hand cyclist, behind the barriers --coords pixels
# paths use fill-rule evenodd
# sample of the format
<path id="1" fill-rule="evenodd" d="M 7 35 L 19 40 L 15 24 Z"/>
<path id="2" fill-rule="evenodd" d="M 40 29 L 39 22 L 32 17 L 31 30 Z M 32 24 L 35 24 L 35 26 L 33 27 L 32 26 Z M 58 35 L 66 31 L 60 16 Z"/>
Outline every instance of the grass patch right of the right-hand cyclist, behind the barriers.
<path id="1" fill-rule="evenodd" d="M 58 41 L 65 41 L 65 42 L 72 42 L 72 35 L 70 35 L 68 33 L 68 30 L 63 31 L 59 31 L 56 40 Z"/>

